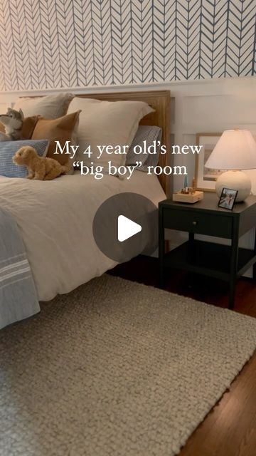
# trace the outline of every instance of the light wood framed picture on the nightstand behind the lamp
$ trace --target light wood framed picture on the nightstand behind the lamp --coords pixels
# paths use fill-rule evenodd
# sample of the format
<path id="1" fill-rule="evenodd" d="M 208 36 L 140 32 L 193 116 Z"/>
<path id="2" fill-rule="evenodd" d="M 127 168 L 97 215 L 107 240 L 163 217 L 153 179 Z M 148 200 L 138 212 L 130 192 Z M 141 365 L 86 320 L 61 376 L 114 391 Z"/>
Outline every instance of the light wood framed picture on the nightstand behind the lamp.
<path id="1" fill-rule="evenodd" d="M 197 133 L 196 145 L 202 145 L 201 151 L 196 154 L 195 179 L 196 189 L 208 192 L 215 191 L 215 181 L 223 170 L 206 168 L 206 162 L 217 144 L 222 133 Z"/>

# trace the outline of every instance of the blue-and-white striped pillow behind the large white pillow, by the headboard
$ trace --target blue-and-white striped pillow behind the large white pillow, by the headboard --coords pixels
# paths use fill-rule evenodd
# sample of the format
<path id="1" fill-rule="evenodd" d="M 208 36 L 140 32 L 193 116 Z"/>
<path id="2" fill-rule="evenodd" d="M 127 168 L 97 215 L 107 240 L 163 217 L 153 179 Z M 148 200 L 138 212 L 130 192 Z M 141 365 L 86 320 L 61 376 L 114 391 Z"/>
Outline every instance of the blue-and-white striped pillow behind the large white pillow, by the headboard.
<path id="1" fill-rule="evenodd" d="M 143 141 L 146 141 L 146 147 L 149 147 L 153 144 L 153 141 L 156 140 L 161 142 L 162 130 L 160 127 L 150 126 L 150 125 L 139 125 L 136 135 L 132 140 L 132 144 L 129 147 L 127 153 L 126 165 L 136 165 L 136 162 L 142 162 L 142 166 L 138 167 L 138 171 L 147 172 L 148 166 L 156 166 L 159 161 L 159 151 L 160 147 L 157 147 L 157 154 L 135 154 L 134 147 L 140 145 L 143 147 Z"/>

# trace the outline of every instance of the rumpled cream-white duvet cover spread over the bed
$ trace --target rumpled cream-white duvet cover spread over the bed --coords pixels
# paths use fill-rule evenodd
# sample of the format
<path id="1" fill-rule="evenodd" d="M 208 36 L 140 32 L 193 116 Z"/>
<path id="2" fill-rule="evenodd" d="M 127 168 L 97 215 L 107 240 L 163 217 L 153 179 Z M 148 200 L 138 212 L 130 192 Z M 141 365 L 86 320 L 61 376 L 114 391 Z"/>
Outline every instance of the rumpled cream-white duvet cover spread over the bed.
<path id="1" fill-rule="evenodd" d="M 21 230 L 39 301 L 68 293 L 116 264 L 95 244 L 92 220 L 105 199 L 121 192 L 156 205 L 165 198 L 157 177 L 139 171 L 129 181 L 80 172 L 47 182 L 0 177 L 0 207 Z"/>

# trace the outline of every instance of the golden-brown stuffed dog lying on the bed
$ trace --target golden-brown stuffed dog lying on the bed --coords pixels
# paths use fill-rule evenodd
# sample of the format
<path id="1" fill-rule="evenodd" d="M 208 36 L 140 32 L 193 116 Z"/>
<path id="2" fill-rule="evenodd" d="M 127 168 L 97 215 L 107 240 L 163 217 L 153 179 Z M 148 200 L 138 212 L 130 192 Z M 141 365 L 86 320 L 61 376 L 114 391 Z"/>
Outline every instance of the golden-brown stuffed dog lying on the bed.
<path id="1" fill-rule="evenodd" d="M 52 180 L 70 170 L 70 165 L 60 165 L 54 158 L 39 157 L 36 150 L 26 145 L 18 149 L 13 157 L 16 165 L 25 165 L 28 168 L 27 179 Z"/>

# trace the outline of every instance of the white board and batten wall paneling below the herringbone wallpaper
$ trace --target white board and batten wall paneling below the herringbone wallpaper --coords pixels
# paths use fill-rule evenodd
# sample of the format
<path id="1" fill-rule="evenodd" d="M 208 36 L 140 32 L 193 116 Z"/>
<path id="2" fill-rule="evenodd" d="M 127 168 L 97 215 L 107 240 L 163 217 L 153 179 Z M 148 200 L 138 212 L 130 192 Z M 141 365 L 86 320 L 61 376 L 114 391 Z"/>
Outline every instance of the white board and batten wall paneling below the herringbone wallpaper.
<path id="1" fill-rule="evenodd" d="M 104 86 L 97 88 L 28 90 L 0 93 L 0 112 L 21 95 L 47 95 L 61 91 L 97 93 L 127 90 L 171 90 L 171 143 L 193 145 L 196 133 L 218 133 L 232 128 L 245 128 L 256 138 L 256 77 L 216 78 L 173 83 L 137 84 L 134 86 Z M 174 165 L 186 165 L 188 182 L 194 175 L 193 155 L 174 155 Z M 256 170 L 247 171 L 252 179 L 252 192 L 256 195 Z M 174 178 L 174 189 L 181 187 L 183 177 Z M 175 247 L 185 234 L 171 233 L 171 246 Z M 252 247 L 253 233 L 241 239 L 242 245 Z"/>

